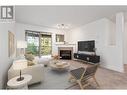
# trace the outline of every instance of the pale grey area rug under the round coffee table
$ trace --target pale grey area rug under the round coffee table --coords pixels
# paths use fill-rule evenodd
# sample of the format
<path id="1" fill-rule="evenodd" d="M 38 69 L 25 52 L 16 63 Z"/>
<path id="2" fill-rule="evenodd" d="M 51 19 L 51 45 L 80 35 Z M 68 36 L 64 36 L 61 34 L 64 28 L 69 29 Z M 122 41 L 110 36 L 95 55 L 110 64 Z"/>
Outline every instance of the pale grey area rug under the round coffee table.
<path id="1" fill-rule="evenodd" d="M 44 80 L 29 86 L 29 89 L 66 89 L 72 85 L 68 82 L 69 72 L 55 71 L 50 67 L 44 67 Z"/>

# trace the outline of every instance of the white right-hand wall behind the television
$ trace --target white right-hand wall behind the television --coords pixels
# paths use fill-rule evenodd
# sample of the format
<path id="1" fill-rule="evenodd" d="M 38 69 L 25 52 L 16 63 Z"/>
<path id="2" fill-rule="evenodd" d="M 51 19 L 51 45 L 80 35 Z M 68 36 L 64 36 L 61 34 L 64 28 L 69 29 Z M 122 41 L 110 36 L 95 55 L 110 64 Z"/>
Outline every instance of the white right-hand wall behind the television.
<path id="1" fill-rule="evenodd" d="M 100 55 L 100 65 L 123 72 L 119 54 L 121 51 L 116 45 L 115 24 L 110 20 L 103 18 L 87 25 L 70 31 L 68 40 L 71 43 L 77 43 L 80 40 L 95 40 L 97 55 Z M 120 38 L 122 39 L 122 38 Z"/>

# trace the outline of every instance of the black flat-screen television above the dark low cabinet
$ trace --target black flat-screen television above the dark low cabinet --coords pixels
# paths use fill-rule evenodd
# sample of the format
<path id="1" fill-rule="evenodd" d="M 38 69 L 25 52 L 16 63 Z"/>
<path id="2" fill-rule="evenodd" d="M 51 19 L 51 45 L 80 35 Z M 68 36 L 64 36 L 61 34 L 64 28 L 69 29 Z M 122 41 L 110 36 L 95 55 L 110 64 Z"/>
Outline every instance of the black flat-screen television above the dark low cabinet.
<path id="1" fill-rule="evenodd" d="M 78 51 L 94 52 L 95 41 L 78 41 Z"/>

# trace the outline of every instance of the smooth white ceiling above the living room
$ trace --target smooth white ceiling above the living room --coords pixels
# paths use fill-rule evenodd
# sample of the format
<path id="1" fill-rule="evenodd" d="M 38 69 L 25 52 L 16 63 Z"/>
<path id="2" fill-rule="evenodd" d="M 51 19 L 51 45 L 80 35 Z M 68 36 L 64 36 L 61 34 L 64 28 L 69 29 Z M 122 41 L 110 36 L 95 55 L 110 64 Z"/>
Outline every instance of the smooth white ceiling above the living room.
<path id="1" fill-rule="evenodd" d="M 70 24 L 70 28 L 100 18 L 115 17 L 126 12 L 127 6 L 16 6 L 16 21 L 20 23 L 56 28 L 57 24 Z"/>

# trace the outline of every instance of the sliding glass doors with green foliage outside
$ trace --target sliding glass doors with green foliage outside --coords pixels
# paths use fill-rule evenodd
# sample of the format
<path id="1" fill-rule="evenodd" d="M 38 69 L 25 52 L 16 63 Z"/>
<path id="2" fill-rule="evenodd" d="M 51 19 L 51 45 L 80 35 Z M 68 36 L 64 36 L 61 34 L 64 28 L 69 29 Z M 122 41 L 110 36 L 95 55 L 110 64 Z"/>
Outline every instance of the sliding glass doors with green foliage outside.
<path id="1" fill-rule="evenodd" d="M 36 32 L 26 30 L 26 52 L 35 56 L 47 56 L 52 54 L 52 35 L 48 32 Z"/>

